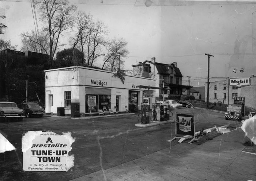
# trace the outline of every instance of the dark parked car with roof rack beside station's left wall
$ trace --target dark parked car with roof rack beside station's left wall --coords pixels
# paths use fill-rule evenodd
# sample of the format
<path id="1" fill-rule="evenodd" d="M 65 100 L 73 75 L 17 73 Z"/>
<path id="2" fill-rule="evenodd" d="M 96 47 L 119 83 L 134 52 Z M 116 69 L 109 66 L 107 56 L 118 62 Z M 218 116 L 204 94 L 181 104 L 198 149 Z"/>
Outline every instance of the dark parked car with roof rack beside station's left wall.
<path id="1" fill-rule="evenodd" d="M 19 108 L 25 110 L 25 116 L 27 118 L 31 116 L 42 117 L 45 114 L 45 110 L 38 105 L 37 101 L 23 101 L 19 104 Z"/>

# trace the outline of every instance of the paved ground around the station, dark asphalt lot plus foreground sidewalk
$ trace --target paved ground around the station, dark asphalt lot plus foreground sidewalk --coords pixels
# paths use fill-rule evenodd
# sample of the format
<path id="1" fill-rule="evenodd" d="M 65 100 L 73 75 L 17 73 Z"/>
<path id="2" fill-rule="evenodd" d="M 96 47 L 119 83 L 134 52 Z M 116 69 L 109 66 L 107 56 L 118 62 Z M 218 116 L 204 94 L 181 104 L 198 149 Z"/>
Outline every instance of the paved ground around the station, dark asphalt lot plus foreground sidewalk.
<path id="1" fill-rule="evenodd" d="M 178 111 L 189 113 L 196 109 Z M 218 127 L 228 123 L 222 113 L 196 112 L 196 131 L 206 125 Z M 182 143 L 167 142 L 174 136 L 174 123 L 138 128 L 135 127 L 136 115 L 116 118 L 75 120 L 44 116 L 1 123 L 1 131 L 16 151 L 0 154 L 0 180 L 256 181 L 255 146 L 248 149 L 243 145 L 248 138 L 240 128 L 188 144 L 190 139 Z M 76 138 L 70 153 L 75 155 L 75 166 L 68 172 L 23 171 L 21 137 L 26 131 L 44 129 L 60 133 L 71 131 Z"/>

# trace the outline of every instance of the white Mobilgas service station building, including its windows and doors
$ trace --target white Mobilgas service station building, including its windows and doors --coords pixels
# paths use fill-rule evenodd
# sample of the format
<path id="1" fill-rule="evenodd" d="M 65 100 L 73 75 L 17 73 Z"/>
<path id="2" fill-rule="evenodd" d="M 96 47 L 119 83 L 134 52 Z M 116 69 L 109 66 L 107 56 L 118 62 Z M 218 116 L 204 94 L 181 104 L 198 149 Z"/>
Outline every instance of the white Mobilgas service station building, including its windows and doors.
<path id="1" fill-rule="evenodd" d="M 146 88 L 139 85 L 154 86 L 155 80 L 144 77 L 72 66 L 45 72 L 45 111 L 57 113 L 57 107 L 64 107 L 65 115 L 71 114 L 71 102 L 79 102 L 80 113 L 98 112 L 107 108 L 114 112 L 128 110 L 129 100 L 140 105 Z M 155 103 L 155 91 L 150 103 Z M 140 109 L 140 106 L 139 106 Z M 129 110 L 128 110 L 129 111 Z"/>

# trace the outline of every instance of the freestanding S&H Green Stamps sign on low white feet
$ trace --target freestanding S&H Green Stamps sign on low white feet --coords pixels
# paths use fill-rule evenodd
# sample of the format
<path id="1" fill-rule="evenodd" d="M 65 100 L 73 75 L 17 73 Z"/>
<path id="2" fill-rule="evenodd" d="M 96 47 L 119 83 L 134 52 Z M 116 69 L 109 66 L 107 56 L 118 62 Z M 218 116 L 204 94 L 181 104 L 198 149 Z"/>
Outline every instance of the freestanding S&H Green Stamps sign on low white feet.
<path id="1" fill-rule="evenodd" d="M 198 139 L 195 138 L 195 122 L 194 122 L 194 114 L 184 114 L 184 113 L 176 113 L 176 128 L 175 128 L 175 137 L 172 139 L 189 139 L 192 140 L 188 143 L 191 143 Z M 170 140 L 170 141 L 172 141 Z"/>

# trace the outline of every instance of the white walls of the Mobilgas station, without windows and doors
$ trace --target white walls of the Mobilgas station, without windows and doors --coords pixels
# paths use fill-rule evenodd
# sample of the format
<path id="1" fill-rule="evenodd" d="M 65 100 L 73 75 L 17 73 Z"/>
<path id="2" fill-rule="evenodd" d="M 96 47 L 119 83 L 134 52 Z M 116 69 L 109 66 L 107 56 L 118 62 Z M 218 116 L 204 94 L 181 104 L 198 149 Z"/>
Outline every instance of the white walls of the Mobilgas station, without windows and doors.
<path id="1" fill-rule="evenodd" d="M 81 66 L 45 70 L 45 106 L 47 113 L 57 113 L 57 107 L 64 107 L 64 92 L 71 91 L 71 99 L 79 99 L 80 113 L 85 112 L 86 87 L 111 89 L 111 108 L 115 111 L 116 96 L 120 96 L 119 111 L 128 109 L 129 90 L 139 91 L 138 103 L 142 103 L 143 90 L 139 85 L 155 86 L 155 80 L 143 77 L 124 76 L 124 84 L 113 72 L 85 68 Z M 49 104 L 49 95 L 53 95 L 53 105 Z M 155 103 L 154 96 L 151 104 Z M 125 108 L 126 106 L 126 108 Z M 151 106 L 152 107 L 152 106 Z M 65 114 L 70 114 L 65 108 Z"/>

